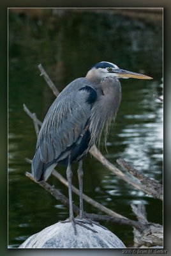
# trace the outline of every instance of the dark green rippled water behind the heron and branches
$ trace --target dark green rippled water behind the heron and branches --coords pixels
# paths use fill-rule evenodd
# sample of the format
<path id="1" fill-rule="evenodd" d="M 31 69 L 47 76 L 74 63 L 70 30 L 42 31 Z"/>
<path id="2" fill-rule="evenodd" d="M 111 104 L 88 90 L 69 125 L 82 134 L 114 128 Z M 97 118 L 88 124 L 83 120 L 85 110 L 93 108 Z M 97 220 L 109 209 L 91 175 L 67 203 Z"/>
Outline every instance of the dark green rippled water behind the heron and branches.
<path id="1" fill-rule="evenodd" d="M 9 246 L 19 246 L 27 237 L 68 217 L 68 209 L 25 176 L 32 159 L 36 134 L 31 119 L 22 109 L 25 103 L 40 120 L 55 99 L 40 77 L 41 63 L 63 90 L 98 61 L 110 61 L 134 72 L 154 77 L 152 81 L 121 80 L 122 101 L 107 140 L 111 163 L 123 157 L 135 168 L 162 182 L 163 106 L 153 97 L 161 96 L 162 24 L 134 20 L 122 15 L 61 12 L 27 17 L 9 13 Z M 64 168 L 58 168 L 64 177 Z M 76 170 L 76 166 L 73 166 Z M 53 177 L 49 179 L 64 195 L 68 190 Z M 73 184 L 78 187 L 77 175 Z M 118 179 L 89 155 L 84 159 L 84 193 L 106 207 L 136 220 L 130 204 L 145 204 L 149 221 L 162 223 L 160 200 L 137 191 Z M 78 204 L 77 196 L 73 196 Z M 84 204 L 85 211 L 102 214 Z M 132 228 L 101 223 L 126 246 L 133 244 Z"/>

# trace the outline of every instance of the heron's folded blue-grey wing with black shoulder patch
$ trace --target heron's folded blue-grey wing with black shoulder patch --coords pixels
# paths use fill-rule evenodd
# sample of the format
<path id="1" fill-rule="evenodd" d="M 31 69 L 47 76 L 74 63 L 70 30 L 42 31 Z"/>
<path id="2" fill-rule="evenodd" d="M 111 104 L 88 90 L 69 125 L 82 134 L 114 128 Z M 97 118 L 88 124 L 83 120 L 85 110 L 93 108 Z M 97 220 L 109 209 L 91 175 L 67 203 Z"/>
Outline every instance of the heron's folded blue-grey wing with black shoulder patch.
<path id="1" fill-rule="evenodd" d="M 90 85 L 87 79 L 76 79 L 66 86 L 48 110 L 36 145 L 41 162 L 57 159 L 84 131 L 96 96 Z"/>

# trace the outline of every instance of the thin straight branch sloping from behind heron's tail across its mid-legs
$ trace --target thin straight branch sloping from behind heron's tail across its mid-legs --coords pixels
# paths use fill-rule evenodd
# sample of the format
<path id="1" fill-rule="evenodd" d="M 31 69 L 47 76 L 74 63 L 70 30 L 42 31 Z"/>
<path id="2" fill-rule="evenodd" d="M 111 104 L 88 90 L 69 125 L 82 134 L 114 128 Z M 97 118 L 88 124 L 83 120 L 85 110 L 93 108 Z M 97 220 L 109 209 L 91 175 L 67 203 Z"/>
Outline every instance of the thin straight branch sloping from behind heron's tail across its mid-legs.
<path id="1" fill-rule="evenodd" d="M 28 158 L 26 158 L 26 161 L 27 161 L 27 163 L 31 163 L 31 162 L 32 162 L 31 159 L 28 159 Z M 64 179 L 64 177 L 63 177 L 59 172 L 57 172 L 55 169 L 53 170 L 52 175 L 54 175 L 54 177 L 56 177 L 57 179 L 59 179 L 59 180 L 61 181 L 61 183 L 63 183 L 65 186 L 68 187 L 68 181 L 67 181 L 66 179 Z M 79 190 L 78 190 L 77 188 L 75 188 L 75 186 L 73 186 L 73 185 L 72 185 L 72 191 L 73 191 L 73 193 L 75 193 L 76 195 L 79 195 Z M 82 196 L 83 196 L 83 199 L 84 199 L 87 203 L 93 205 L 93 207 L 99 209 L 100 211 L 105 212 L 105 213 L 107 213 L 108 215 L 110 215 L 110 216 L 112 216 L 112 217 L 125 218 L 125 217 L 122 216 L 121 214 L 118 214 L 117 212 L 114 212 L 114 211 L 108 209 L 107 207 L 101 205 L 100 203 L 96 202 L 96 201 L 93 200 L 91 197 L 89 197 L 89 196 L 87 196 L 87 195 L 85 195 L 85 194 L 83 194 Z M 126 218 L 125 218 L 125 219 L 126 219 Z"/>

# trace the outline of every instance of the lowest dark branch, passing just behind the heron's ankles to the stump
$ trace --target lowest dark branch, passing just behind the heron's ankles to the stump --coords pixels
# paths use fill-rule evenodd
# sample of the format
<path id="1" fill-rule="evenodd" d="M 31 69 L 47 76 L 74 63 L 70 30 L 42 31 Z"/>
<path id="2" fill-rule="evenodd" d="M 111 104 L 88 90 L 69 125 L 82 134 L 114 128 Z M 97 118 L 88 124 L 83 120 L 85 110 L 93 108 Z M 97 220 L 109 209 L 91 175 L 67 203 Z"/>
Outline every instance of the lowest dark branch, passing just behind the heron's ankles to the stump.
<path id="1" fill-rule="evenodd" d="M 29 159 L 27 159 L 27 160 L 29 160 Z M 31 160 L 29 160 L 29 162 L 31 162 Z M 29 177 L 34 182 L 36 182 L 33 179 L 33 175 L 31 175 L 31 173 L 26 172 L 26 176 Z M 69 206 L 68 198 L 66 196 L 64 196 L 61 192 L 59 192 L 59 190 L 54 188 L 54 186 L 50 186 L 45 181 L 36 182 L 36 183 L 38 185 L 40 185 L 42 188 L 45 188 L 52 196 L 54 196 L 57 200 L 60 200 L 64 205 Z M 73 204 L 73 211 L 76 214 L 79 214 L 79 208 L 75 204 Z M 114 217 L 114 216 L 112 217 L 112 216 L 101 215 L 101 214 L 91 214 L 91 213 L 87 213 L 87 212 L 84 212 L 84 216 L 86 218 L 89 218 L 89 219 L 95 220 L 95 221 L 110 221 L 112 223 L 128 225 L 128 226 L 131 226 L 131 227 L 135 227 L 138 230 L 144 230 L 144 228 L 145 228 L 145 225 L 143 225 L 139 221 L 134 221 L 134 220 L 126 219 L 126 218 L 117 218 L 117 217 Z"/>

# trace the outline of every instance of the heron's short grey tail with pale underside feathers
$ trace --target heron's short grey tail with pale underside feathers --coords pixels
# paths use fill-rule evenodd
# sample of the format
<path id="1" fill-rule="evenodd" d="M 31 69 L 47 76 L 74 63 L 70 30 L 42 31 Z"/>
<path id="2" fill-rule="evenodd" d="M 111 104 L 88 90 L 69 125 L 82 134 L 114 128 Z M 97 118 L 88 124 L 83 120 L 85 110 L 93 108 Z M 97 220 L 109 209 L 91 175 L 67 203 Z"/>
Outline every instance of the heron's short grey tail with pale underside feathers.
<path id="1" fill-rule="evenodd" d="M 33 161 L 31 164 L 31 172 L 34 177 L 34 180 L 36 180 L 36 181 L 45 180 L 46 181 L 56 165 L 57 165 L 57 163 L 54 163 L 54 161 L 52 161 L 50 163 L 43 163 L 41 161 L 41 157 L 40 157 L 40 148 L 37 148 L 36 154 L 34 155 Z"/>

